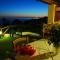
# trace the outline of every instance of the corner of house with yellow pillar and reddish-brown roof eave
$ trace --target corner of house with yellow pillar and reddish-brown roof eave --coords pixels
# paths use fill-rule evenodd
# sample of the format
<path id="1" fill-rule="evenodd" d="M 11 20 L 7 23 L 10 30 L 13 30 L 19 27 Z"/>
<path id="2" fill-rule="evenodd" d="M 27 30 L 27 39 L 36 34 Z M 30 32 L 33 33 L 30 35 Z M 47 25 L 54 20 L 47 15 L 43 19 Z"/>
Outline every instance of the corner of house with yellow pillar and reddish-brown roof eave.
<path id="1" fill-rule="evenodd" d="M 48 4 L 48 24 L 60 23 L 60 0 L 39 0 Z"/>

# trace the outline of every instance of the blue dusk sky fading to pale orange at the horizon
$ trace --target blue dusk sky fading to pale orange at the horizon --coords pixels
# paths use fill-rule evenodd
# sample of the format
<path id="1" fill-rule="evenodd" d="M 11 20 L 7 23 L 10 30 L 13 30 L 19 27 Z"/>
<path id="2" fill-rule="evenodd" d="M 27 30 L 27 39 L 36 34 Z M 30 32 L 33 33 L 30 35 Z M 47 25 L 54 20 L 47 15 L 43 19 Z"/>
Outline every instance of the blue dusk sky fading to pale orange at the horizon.
<path id="1" fill-rule="evenodd" d="M 48 4 L 36 0 L 0 0 L 0 16 L 47 16 Z"/>

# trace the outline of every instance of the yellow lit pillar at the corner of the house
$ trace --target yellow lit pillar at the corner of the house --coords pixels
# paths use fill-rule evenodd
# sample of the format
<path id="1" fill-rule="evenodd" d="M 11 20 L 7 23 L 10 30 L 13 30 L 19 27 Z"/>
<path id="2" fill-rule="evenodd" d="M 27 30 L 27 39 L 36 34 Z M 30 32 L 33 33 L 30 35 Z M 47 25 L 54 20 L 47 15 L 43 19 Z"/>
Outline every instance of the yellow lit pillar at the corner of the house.
<path id="1" fill-rule="evenodd" d="M 48 5 L 48 24 L 54 23 L 56 4 Z"/>

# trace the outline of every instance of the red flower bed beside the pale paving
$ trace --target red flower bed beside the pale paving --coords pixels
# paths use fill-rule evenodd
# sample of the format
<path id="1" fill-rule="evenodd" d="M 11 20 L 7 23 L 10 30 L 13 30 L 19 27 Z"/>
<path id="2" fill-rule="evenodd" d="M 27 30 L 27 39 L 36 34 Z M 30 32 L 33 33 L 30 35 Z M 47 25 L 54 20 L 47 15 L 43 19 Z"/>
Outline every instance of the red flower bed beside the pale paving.
<path id="1" fill-rule="evenodd" d="M 27 45 L 27 46 L 17 46 L 16 47 L 16 52 L 20 53 L 22 55 L 33 55 L 35 53 L 35 49 L 32 48 L 31 45 Z"/>

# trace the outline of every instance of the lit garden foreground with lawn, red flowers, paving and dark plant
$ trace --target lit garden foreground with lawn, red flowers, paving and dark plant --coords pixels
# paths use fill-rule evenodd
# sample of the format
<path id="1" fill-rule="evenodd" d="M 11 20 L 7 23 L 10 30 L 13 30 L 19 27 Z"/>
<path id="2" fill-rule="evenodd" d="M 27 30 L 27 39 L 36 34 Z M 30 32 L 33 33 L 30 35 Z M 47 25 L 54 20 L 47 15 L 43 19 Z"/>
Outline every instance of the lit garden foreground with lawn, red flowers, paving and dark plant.
<path id="1" fill-rule="evenodd" d="M 14 46 L 13 41 L 16 38 L 5 37 L 0 38 L 0 54 L 3 58 L 15 58 L 19 60 L 40 60 L 40 59 L 55 59 L 60 50 L 60 25 L 51 25 L 49 28 L 49 36 L 47 39 L 32 39 L 34 41 L 28 42 L 26 40 L 16 43 Z M 31 37 L 32 38 L 32 37 Z M 3 46 L 3 47 L 2 47 Z M 4 52 L 4 53 L 3 53 Z M 2 54 L 3 53 L 3 54 Z M 25 58 L 25 59 L 24 59 Z"/>

